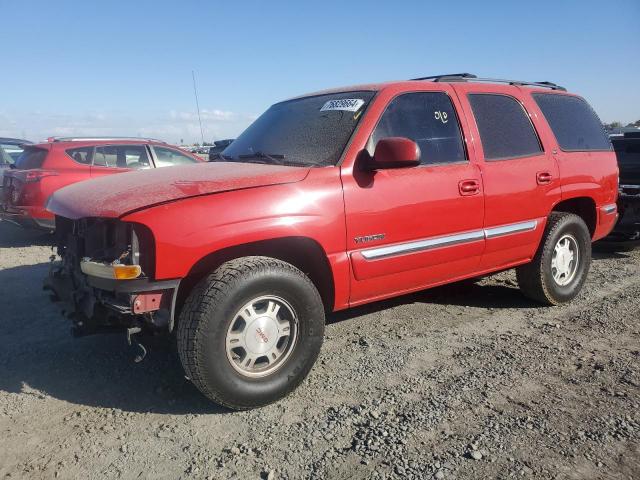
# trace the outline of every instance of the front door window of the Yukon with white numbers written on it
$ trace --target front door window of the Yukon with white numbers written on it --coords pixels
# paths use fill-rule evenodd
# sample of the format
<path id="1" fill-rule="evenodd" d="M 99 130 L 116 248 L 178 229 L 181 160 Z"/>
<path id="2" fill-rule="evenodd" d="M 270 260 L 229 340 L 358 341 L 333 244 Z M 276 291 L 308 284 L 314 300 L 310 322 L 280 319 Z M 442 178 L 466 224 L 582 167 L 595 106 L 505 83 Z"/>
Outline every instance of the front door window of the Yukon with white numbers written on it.
<path id="1" fill-rule="evenodd" d="M 416 142 L 423 165 L 466 160 L 458 116 L 444 92 L 406 93 L 394 98 L 369 139 L 369 154 L 373 155 L 379 140 L 388 137 Z"/>

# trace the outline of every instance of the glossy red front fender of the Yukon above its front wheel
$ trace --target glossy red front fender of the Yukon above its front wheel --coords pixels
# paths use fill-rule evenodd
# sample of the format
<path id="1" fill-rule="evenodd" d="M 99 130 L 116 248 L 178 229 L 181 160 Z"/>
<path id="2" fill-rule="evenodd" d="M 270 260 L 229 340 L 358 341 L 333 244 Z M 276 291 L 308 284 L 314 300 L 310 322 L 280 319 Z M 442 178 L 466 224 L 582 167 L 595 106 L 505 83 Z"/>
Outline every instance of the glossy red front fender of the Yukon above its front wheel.
<path id="1" fill-rule="evenodd" d="M 335 284 L 345 283 L 339 278 L 343 275 L 348 279 L 348 266 L 345 272 L 336 271 L 336 265 L 348 265 L 337 167 L 314 169 L 295 184 L 188 198 L 122 220 L 143 224 L 153 233 L 156 280 L 184 278 L 200 259 L 219 250 L 282 237 L 314 240 L 329 258 Z"/>

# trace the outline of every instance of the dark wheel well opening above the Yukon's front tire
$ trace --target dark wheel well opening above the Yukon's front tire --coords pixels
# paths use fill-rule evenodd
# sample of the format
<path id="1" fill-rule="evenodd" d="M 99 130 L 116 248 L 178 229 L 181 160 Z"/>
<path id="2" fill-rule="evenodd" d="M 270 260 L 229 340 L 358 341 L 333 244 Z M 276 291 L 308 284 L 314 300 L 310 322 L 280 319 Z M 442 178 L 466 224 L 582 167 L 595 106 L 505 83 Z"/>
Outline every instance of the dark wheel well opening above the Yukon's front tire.
<path id="1" fill-rule="evenodd" d="M 322 298 L 326 311 L 333 311 L 335 284 L 326 252 L 314 239 L 288 236 L 226 247 L 199 259 L 180 282 L 177 314 L 192 288 L 207 274 L 229 260 L 248 256 L 277 258 L 290 263 L 309 277 Z"/>

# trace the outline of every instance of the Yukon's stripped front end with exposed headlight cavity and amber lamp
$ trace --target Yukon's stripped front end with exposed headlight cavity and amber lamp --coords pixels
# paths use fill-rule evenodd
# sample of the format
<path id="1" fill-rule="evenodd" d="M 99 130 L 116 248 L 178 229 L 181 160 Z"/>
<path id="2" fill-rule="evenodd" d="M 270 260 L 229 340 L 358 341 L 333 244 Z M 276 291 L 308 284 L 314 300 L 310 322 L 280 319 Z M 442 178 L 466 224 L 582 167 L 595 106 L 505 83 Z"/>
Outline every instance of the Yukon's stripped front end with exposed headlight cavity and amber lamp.
<path id="1" fill-rule="evenodd" d="M 76 336 L 171 331 L 179 280 L 154 281 L 154 239 L 140 224 L 56 217 L 57 256 L 44 287 Z"/>

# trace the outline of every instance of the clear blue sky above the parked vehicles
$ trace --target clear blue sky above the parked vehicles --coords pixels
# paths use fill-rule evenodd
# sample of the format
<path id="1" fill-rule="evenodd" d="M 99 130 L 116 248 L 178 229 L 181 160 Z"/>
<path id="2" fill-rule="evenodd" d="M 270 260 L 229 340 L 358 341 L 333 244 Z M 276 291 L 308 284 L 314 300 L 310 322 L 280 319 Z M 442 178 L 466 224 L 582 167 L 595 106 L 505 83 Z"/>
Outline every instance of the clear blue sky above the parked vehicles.
<path id="1" fill-rule="evenodd" d="M 0 0 L 0 136 L 234 138 L 269 105 L 442 73 L 549 80 L 640 119 L 640 0 Z"/>

